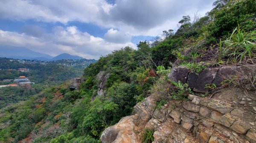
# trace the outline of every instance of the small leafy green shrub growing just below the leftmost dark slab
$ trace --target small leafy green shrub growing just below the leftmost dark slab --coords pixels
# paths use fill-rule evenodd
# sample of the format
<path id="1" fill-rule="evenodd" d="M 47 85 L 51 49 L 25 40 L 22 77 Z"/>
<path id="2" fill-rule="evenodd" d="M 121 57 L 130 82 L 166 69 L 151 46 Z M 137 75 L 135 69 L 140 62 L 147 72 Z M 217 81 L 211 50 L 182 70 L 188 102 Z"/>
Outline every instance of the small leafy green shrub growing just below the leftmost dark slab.
<path id="1" fill-rule="evenodd" d="M 172 84 L 175 85 L 175 88 L 172 89 L 172 98 L 178 100 L 186 100 L 189 94 L 193 94 L 191 89 L 189 88 L 188 84 L 182 84 L 180 81 L 176 83 L 172 81 Z"/>

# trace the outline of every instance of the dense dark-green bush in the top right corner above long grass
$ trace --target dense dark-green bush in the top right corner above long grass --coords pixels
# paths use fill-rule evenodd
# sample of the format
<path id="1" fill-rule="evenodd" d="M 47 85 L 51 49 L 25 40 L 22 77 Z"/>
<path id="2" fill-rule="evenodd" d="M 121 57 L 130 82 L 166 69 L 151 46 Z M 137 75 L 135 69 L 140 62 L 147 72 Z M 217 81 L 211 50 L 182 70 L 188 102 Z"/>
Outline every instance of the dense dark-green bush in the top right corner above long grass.
<path id="1" fill-rule="evenodd" d="M 227 0 L 221 3 L 217 0 L 215 8 L 209 12 L 213 20 L 207 26 L 207 31 L 214 37 L 227 35 L 237 26 L 237 23 L 247 30 L 256 28 L 255 23 L 255 0 Z"/>

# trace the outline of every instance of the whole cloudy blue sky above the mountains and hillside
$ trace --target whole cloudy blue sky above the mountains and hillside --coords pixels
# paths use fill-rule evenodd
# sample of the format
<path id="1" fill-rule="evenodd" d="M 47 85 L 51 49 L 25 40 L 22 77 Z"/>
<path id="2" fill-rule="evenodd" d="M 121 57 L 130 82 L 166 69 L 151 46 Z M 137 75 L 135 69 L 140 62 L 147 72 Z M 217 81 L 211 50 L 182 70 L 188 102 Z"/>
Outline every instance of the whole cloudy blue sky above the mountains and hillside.
<path id="1" fill-rule="evenodd" d="M 0 45 L 99 59 L 177 30 L 182 16 L 204 16 L 214 1 L 1 0 Z"/>

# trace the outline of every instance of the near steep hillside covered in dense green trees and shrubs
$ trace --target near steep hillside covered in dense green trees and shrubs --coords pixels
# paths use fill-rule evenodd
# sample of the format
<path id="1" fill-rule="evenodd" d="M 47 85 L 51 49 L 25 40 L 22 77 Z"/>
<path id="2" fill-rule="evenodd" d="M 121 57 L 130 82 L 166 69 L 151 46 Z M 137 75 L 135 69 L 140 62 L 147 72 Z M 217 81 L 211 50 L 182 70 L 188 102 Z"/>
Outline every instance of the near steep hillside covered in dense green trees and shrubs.
<path id="1" fill-rule="evenodd" d="M 213 6 L 204 17 L 183 16 L 177 31 L 163 31 L 164 39 L 101 57 L 84 69 L 80 90 L 61 84 L 0 109 L 0 142 L 100 143 L 103 130 L 133 114 L 134 105 L 148 95 L 157 95 L 157 108 L 171 98 L 187 99 L 189 87 L 167 79 L 173 66 L 186 65 L 199 73 L 206 67 L 254 64 L 256 1 L 217 0 Z M 58 77 L 57 70 L 51 70 L 57 74 L 52 77 Z M 103 95 L 98 92 L 102 88 L 99 73 L 108 77 Z"/>

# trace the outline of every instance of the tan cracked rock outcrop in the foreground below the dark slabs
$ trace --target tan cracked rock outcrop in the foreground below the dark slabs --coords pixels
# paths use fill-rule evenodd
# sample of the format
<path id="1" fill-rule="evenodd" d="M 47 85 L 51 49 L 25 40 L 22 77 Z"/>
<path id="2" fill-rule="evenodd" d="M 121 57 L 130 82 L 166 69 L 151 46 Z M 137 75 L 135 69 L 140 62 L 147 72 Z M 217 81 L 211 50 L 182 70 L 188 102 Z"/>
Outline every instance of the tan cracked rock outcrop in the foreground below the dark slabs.
<path id="1" fill-rule="evenodd" d="M 233 88 L 211 99 L 188 98 L 155 109 L 154 98 L 149 96 L 134 107 L 135 115 L 107 128 L 101 140 L 140 143 L 148 128 L 155 131 L 153 143 L 256 143 L 256 93 Z"/>

